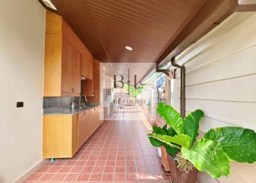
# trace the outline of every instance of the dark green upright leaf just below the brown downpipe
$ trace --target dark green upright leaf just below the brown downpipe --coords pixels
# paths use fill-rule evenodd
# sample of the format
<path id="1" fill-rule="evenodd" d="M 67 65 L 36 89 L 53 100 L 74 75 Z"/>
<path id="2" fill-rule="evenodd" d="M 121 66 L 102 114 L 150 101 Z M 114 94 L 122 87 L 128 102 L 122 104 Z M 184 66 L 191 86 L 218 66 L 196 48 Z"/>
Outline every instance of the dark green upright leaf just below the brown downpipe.
<path id="1" fill-rule="evenodd" d="M 199 135 L 199 122 L 203 116 L 204 112 L 200 109 L 197 109 L 192 113 L 189 113 L 188 116 L 186 116 L 186 118 L 184 118 L 183 120 L 184 133 L 191 138 L 191 144 L 196 140 L 196 137 Z"/>

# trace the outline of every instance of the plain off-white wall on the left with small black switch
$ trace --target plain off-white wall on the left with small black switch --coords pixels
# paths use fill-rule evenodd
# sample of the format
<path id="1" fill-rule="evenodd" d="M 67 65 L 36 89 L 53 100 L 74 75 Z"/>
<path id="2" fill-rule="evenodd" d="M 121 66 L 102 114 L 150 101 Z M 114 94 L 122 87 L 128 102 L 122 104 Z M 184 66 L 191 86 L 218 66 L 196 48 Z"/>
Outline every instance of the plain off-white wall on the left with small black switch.
<path id="1" fill-rule="evenodd" d="M 10 183 L 42 161 L 45 10 L 0 0 L 0 24 L 0 182 Z"/>

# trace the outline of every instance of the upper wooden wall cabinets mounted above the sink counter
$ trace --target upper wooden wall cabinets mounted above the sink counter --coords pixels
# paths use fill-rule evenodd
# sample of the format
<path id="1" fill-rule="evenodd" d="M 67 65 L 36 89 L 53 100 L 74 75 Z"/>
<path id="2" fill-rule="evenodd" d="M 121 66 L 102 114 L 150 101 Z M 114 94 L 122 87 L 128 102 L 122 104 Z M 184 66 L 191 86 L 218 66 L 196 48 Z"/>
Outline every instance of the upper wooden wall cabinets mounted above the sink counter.
<path id="1" fill-rule="evenodd" d="M 46 12 L 44 97 L 79 96 L 81 76 L 93 79 L 93 56 L 59 15 Z"/>

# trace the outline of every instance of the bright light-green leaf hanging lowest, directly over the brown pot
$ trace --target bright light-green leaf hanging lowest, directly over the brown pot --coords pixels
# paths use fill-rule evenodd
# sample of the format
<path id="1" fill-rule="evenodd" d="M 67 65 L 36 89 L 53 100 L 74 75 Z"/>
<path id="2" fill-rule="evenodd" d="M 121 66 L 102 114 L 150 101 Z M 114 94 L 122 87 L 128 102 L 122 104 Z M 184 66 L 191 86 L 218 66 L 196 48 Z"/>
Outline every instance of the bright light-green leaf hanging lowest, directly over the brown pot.
<path id="1" fill-rule="evenodd" d="M 212 177 L 230 173 L 228 157 L 217 141 L 199 139 L 191 150 L 182 147 L 181 152 L 199 171 L 207 171 Z"/>

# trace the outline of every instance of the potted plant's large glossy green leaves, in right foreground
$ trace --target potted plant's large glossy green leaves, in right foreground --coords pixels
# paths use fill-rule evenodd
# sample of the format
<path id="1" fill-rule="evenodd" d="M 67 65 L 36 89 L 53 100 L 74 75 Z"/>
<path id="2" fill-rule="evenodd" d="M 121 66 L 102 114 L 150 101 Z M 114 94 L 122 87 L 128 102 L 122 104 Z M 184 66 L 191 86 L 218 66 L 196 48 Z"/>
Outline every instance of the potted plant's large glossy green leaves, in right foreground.
<path id="1" fill-rule="evenodd" d="M 256 133 L 250 129 L 211 129 L 205 133 L 204 138 L 196 140 L 199 122 L 204 116 L 202 110 L 197 109 L 182 118 L 172 106 L 159 103 L 157 113 L 166 120 L 166 125 L 162 129 L 153 127 L 154 132 L 148 134 L 152 145 L 170 148 L 167 151 L 169 154 L 181 152 L 184 159 L 199 171 L 206 171 L 212 177 L 219 178 L 230 173 L 230 161 L 256 161 Z"/>

